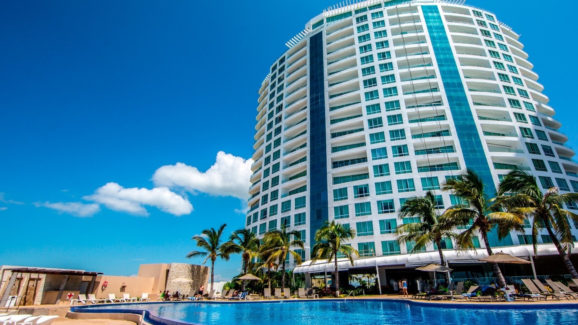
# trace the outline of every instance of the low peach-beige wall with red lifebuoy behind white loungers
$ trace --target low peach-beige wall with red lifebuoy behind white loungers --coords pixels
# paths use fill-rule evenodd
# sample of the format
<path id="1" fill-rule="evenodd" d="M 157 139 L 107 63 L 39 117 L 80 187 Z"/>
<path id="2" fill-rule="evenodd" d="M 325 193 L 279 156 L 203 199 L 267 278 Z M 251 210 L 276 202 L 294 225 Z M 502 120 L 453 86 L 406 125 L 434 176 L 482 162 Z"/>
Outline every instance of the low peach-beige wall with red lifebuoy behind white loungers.
<path id="1" fill-rule="evenodd" d="M 103 289 L 102 283 L 107 281 L 108 286 Z M 125 287 L 123 287 L 123 283 Z M 140 276 L 111 276 L 101 275 L 97 276 L 97 280 L 92 290 L 97 298 L 105 299 L 108 295 L 113 293 L 116 297 L 123 297 L 123 294 L 128 293 L 131 297 L 140 297 L 143 293 L 154 293 L 153 290 L 154 278 L 141 278 Z"/>

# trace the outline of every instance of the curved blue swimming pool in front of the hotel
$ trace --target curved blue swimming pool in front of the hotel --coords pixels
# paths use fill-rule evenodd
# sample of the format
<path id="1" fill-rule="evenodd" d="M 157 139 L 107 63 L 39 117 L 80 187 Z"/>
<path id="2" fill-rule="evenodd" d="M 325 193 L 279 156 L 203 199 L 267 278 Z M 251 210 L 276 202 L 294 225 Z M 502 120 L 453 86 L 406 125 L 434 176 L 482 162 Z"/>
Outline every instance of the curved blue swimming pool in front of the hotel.
<path id="1" fill-rule="evenodd" d="M 572 304 L 544 305 L 423 305 L 395 300 L 269 301 L 269 302 L 160 302 L 149 304 L 90 305 L 77 312 L 149 311 L 152 323 L 162 320 L 202 325 L 313 325 L 313 324 L 576 324 L 578 310 Z M 160 322 L 159 322 L 160 321 Z M 162 322 L 170 324 L 173 322 Z M 177 324 L 177 323 L 173 323 Z"/>

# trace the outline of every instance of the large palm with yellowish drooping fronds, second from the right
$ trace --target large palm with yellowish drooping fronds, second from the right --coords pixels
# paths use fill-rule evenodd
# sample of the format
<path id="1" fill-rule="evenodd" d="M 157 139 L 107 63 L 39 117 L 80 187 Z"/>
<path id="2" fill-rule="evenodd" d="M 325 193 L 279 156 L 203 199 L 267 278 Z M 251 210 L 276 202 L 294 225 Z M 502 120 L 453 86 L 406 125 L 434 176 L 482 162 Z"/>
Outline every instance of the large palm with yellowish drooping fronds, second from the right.
<path id="1" fill-rule="evenodd" d="M 500 204 L 491 204 L 484 193 L 486 184 L 475 171 L 466 169 L 457 178 L 447 179 L 442 184 L 443 191 L 457 195 L 462 201 L 461 204 L 450 206 L 444 212 L 444 217 L 450 219 L 449 222 L 458 226 L 468 227 L 457 237 L 457 250 L 466 251 L 475 249 L 473 238 L 477 233 L 481 234 L 486 245 L 488 255 L 494 254 L 488 241 L 488 232 L 497 227 L 498 237 L 504 238 L 510 230 L 523 231 L 524 217 L 516 213 L 502 212 L 499 210 Z M 498 263 L 492 263 L 494 274 L 498 278 L 500 286 L 506 286 L 506 280 L 502 275 Z"/>

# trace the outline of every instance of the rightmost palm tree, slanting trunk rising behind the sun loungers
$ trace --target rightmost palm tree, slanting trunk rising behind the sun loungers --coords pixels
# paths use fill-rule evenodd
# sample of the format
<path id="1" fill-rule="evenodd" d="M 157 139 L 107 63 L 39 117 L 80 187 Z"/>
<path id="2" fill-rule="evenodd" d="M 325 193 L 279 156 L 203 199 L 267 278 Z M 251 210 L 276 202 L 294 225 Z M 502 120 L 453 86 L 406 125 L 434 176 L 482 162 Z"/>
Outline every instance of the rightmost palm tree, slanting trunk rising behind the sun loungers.
<path id="1" fill-rule="evenodd" d="M 572 278 L 578 279 L 576 268 L 570 261 L 574 242 L 568 220 L 578 224 L 578 215 L 563 209 L 563 204 L 578 202 L 578 193 L 560 194 L 558 187 L 542 193 L 535 176 L 524 171 L 510 171 L 499 184 L 498 194 L 504 195 L 501 201 L 510 211 L 531 217 L 534 253 L 538 250 L 538 233 L 546 228 Z"/>

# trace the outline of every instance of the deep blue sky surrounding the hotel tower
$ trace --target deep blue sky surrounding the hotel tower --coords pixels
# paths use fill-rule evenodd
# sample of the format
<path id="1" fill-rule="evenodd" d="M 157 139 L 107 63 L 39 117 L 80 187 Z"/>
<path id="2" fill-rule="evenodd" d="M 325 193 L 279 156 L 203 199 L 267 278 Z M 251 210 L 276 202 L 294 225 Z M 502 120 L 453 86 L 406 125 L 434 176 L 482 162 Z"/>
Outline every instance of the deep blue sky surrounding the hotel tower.
<path id="1" fill-rule="evenodd" d="M 576 2 L 466 3 L 522 35 L 574 145 Z M 334 4 L 0 3 L 0 264 L 131 275 L 189 261 L 204 228 L 243 227 L 242 186 L 226 182 L 246 167 L 234 156 L 252 154 L 256 91 L 284 43 Z M 203 174 L 220 151 L 232 156 Z M 238 267 L 217 263 L 218 279 Z"/>

